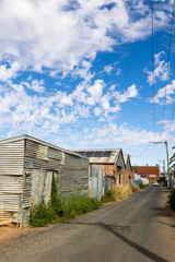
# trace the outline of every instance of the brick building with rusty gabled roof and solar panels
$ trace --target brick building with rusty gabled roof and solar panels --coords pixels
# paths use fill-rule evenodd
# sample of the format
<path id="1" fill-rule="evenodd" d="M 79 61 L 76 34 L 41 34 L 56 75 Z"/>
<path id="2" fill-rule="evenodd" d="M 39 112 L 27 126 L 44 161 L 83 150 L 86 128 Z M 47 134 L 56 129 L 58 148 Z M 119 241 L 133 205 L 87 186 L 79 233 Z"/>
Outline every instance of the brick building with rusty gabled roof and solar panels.
<path id="1" fill-rule="evenodd" d="M 101 166 L 104 174 L 113 178 L 114 186 L 129 186 L 132 176 L 130 157 L 124 157 L 121 148 L 77 150 L 74 153 L 89 157 L 91 167 Z"/>

